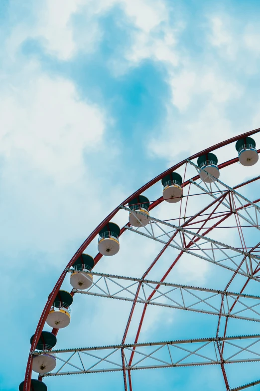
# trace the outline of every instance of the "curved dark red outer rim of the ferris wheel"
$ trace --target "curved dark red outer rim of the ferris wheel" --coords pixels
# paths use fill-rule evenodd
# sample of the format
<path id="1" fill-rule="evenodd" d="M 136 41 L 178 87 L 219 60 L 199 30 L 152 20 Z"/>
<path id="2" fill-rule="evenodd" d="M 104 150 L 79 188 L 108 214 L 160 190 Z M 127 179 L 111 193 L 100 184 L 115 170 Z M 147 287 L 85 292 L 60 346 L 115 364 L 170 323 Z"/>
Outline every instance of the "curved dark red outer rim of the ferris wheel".
<path id="1" fill-rule="evenodd" d="M 66 268 L 64 269 L 64 271 L 62 272 L 62 274 L 60 275 L 59 279 L 57 280 L 51 294 L 49 295 L 48 297 L 48 300 L 46 302 L 46 305 L 43 309 L 43 312 L 41 314 L 41 317 L 40 317 L 40 320 L 38 322 L 38 325 L 37 325 L 37 328 L 35 330 L 35 333 L 34 333 L 34 337 L 33 337 L 33 341 L 32 341 L 32 344 L 31 344 L 31 348 L 30 348 L 30 353 L 29 353 L 29 357 L 28 357 L 28 361 L 27 361 L 27 366 L 26 366 L 26 371 L 25 371 L 25 378 L 24 378 L 24 385 L 23 385 L 23 391 L 29 391 L 30 390 L 30 384 L 31 384 L 31 373 L 32 373 L 32 355 L 31 353 L 35 351 L 35 348 L 37 346 L 37 343 L 39 341 L 39 338 L 40 338 L 40 335 L 41 335 L 41 332 L 43 330 L 43 327 L 44 327 L 44 324 L 46 322 L 46 318 L 47 318 L 47 315 L 48 315 L 48 312 L 51 308 L 51 305 L 54 301 L 54 298 L 56 297 L 58 291 L 60 290 L 61 288 L 61 285 L 64 281 L 64 278 L 66 276 L 66 273 L 67 273 L 67 270 L 68 268 L 70 268 L 73 263 L 81 256 L 81 254 L 84 252 L 84 250 L 87 248 L 87 246 L 92 242 L 92 240 L 96 237 L 96 235 L 98 234 L 98 232 L 103 229 L 105 227 L 105 225 L 116 215 L 116 213 L 120 210 L 121 206 L 125 206 L 132 198 L 134 198 L 135 196 L 138 196 L 140 195 L 143 191 L 147 190 L 148 188 L 150 188 L 152 185 L 154 185 L 156 182 L 158 182 L 159 180 L 162 179 L 163 176 L 167 175 L 168 173 L 172 172 L 172 171 L 175 171 L 176 169 L 178 169 L 179 167 L 181 167 L 182 165 L 184 165 L 187 160 L 193 160 L 199 156 L 201 156 L 202 154 L 206 154 L 206 153 L 209 153 L 211 151 L 214 151 L 216 149 L 219 149 L 225 145 L 228 145 L 228 144 L 231 144 L 239 139 L 242 139 L 242 138 L 245 138 L 245 137 L 248 137 L 248 136 L 251 136 L 255 133 L 258 133 L 260 132 L 260 128 L 258 129 L 254 129 L 252 131 L 249 131 L 249 132 L 246 132 L 246 133 L 243 133 L 239 136 L 236 136 L 236 137 L 232 137 L 228 140 L 225 140 L 221 143 L 218 143 L 218 144 L 215 144 L 207 149 L 204 149 L 194 155 L 192 155 L 191 157 L 189 157 L 188 159 L 185 159 L 185 160 L 182 160 L 181 162 L 175 164 L 174 166 L 168 168 L 167 170 L 165 170 L 164 172 L 162 172 L 161 174 L 157 175 L 156 177 L 154 177 L 152 180 L 150 180 L 149 182 L 147 182 L 145 185 L 143 185 L 142 187 L 140 187 L 138 190 L 136 190 L 133 194 L 131 194 L 123 203 L 121 203 L 116 209 L 114 209 L 95 229 L 94 231 L 88 236 L 88 238 L 83 242 L 83 244 L 79 247 L 79 249 L 76 251 L 76 253 L 74 254 L 74 256 L 71 258 L 70 262 L 67 264 Z M 258 153 L 260 153 L 260 150 L 258 150 Z M 234 164 L 236 162 L 238 162 L 239 159 L 238 157 L 236 158 L 233 158 L 229 161 L 226 161 L 222 164 L 219 164 L 218 167 L 219 169 L 222 169 L 224 167 L 227 167 L 231 164 Z M 196 178 L 196 177 L 194 177 Z M 253 179 L 253 180 L 256 180 L 256 179 Z M 251 180 L 251 181 L 253 181 Z M 183 186 L 186 186 L 188 184 L 188 181 L 184 182 L 183 183 Z M 236 188 L 236 186 L 234 187 Z M 154 207 L 156 207 L 157 205 L 159 205 L 161 202 L 163 201 L 163 198 L 162 197 L 159 197 L 157 200 L 153 201 L 149 207 L 149 209 L 153 209 Z M 122 228 L 121 229 L 121 232 L 120 232 L 120 235 L 122 235 L 123 232 L 125 232 L 126 228 Z M 167 246 L 166 246 L 167 247 Z M 164 251 L 164 250 L 163 250 Z M 95 257 L 95 265 L 98 263 L 98 261 L 101 259 L 102 257 L 102 254 L 98 253 L 97 256 Z M 94 265 L 94 266 L 95 266 Z M 133 308 L 134 308 L 134 303 L 133 303 Z M 130 313 L 130 317 L 131 317 L 131 313 Z M 220 322 L 220 321 L 219 321 Z M 128 332 L 128 327 L 129 327 L 129 324 L 127 325 L 127 328 L 126 328 L 126 331 L 125 331 L 125 334 L 124 334 L 124 337 L 123 337 L 123 341 L 126 339 L 126 335 L 127 335 L 127 332 Z M 57 329 L 54 331 L 54 334 L 56 335 L 57 334 Z M 137 338 L 138 339 L 138 338 Z M 223 348 L 222 348 L 223 349 Z M 221 352 L 220 352 L 220 356 L 221 356 Z M 123 368 L 124 368 L 124 360 L 123 360 Z M 125 390 L 127 390 L 127 385 L 126 385 L 126 369 L 124 368 L 124 381 L 125 381 Z M 223 371 L 223 374 L 224 374 L 224 371 Z M 129 376 L 130 376 L 130 372 L 129 372 Z M 225 379 L 225 374 L 224 374 L 224 379 Z M 225 380 L 226 382 L 226 380 Z M 253 385 L 253 384 L 252 384 Z M 226 382 L 226 386 L 227 386 L 227 382 Z M 228 386 L 227 386 L 228 387 Z M 131 391 L 131 383 L 130 383 L 130 391 Z M 227 388 L 227 390 L 229 390 Z"/>

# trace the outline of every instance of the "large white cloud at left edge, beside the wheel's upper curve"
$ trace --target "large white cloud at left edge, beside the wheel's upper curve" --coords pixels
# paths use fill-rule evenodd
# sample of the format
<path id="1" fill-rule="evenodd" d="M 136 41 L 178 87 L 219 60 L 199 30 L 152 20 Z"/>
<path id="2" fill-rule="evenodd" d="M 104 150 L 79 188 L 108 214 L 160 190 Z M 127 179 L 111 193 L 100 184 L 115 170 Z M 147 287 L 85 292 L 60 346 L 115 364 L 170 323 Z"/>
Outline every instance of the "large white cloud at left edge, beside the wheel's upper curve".
<path id="1" fill-rule="evenodd" d="M 84 219 L 98 224 L 104 213 L 99 204 L 102 184 L 86 156 L 106 156 L 103 138 L 109 117 L 80 100 L 71 81 L 51 78 L 35 63 L 21 63 L 19 74 L 2 83 L 0 98 L 6 249 L 14 235 L 19 251 L 33 248 L 48 256 L 67 251 L 85 236 Z"/>

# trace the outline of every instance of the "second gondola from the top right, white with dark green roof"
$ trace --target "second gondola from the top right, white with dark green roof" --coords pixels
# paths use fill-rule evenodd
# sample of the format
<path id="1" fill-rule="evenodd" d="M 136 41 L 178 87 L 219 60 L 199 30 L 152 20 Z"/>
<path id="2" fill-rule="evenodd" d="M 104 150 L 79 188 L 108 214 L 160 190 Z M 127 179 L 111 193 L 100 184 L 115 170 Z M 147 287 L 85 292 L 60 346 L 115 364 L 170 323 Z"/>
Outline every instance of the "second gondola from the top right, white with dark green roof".
<path id="1" fill-rule="evenodd" d="M 207 153 L 198 158 L 198 166 L 200 168 L 200 178 L 203 182 L 215 182 L 219 178 L 220 172 L 218 168 L 218 158 L 213 153 Z M 212 176 L 210 176 L 210 175 Z"/>

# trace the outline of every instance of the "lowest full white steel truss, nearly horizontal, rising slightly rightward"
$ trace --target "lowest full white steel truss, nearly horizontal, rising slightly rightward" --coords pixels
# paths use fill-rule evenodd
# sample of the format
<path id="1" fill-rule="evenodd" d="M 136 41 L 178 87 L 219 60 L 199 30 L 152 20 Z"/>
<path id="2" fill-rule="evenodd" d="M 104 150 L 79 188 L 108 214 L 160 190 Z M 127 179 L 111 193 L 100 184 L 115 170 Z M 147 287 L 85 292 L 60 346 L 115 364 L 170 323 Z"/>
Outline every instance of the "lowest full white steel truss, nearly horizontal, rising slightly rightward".
<path id="1" fill-rule="evenodd" d="M 143 344 L 52 350 L 61 366 L 45 376 L 90 374 L 123 371 L 121 351 L 126 370 L 189 367 L 221 364 L 217 344 L 225 341 L 224 364 L 260 361 L 260 335 L 189 339 Z M 135 360 L 129 366 L 134 350 Z M 45 352 L 35 351 L 33 355 Z M 50 351 L 48 351 L 50 354 Z"/>

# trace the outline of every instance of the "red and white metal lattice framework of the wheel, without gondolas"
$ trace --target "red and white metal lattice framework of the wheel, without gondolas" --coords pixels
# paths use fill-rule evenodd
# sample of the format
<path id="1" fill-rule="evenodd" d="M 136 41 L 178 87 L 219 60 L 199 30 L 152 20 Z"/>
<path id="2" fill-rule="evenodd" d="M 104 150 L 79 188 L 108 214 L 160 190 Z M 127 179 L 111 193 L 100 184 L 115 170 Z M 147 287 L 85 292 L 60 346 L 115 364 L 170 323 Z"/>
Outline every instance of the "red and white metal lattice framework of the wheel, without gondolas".
<path id="1" fill-rule="evenodd" d="M 132 391 L 131 373 L 135 370 L 218 365 L 228 391 L 243 390 L 260 384 L 260 380 L 254 380 L 249 384 L 231 388 L 226 373 L 228 364 L 260 361 L 260 335 L 227 336 L 230 319 L 233 320 L 232 322 L 237 322 L 237 320 L 260 322 L 260 296 L 247 292 L 249 283 L 260 282 L 260 198 L 254 197 L 256 199 L 250 200 L 246 196 L 247 189 L 258 181 L 260 176 L 250 178 L 233 187 L 216 178 L 214 182 L 205 183 L 199 176 L 201 168 L 193 161 L 202 154 L 215 151 L 258 132 L 260 129 L 231 138 L 170 167 L 128 197 L 91 233 L 65 267 L 48 297 L 31 344 L 23 391 L 30 390 L 33 356 L 46 353 L 46 351 L 36 350 L 36 346 L 51 305 L 66 275 L 75 272 L 71 266 L 95 239 L 98 232 L 118 212 L 125 213 L 127 221 L 127 215 L 131 212 L 128 202 L 132 198 L 150 189 L 165 175 L 181 167 L 184 170 L 182 184 L 184 192 L 179 203 L 178 215 L 173 218 L 167 216 L 167 219 L 159 218 L 160 215 L 158 216 L 156 212 L 157 207 L 163 201 L 160 197 L 151 202 L 148 225 L 144 226 L 140 220 L 145 214 L 136 211 L 135 218 L 140 223 L 140 227 L 135 228 L 127 223 L 121 229 L 120 235 L 126 232 L 134 237 L 134 234 L 137 234 L 146 238 L 144 239 L 146 242 L 147 239 L 151 239 L 162 245 L 162 249 L 143 275 L 123 277 L 93 271 L 93 284 L 89 289 L 84 291 L 73 289 L 71 292 L 75 298 L 80 294 L 86 295 L 86 299 L 89 296 L 95 296 L 132 303 L 121 343 L 102 347 L 53 349 L 51 354 L 55 356 L 57 366 L 52 372 L 39 377 L 39 380 L 62 375 L 121 371 L 125 391 Z M 225 172 L 228 167 L 237 162 L 236 157 L 219 164 L 218 167 L 221 172 L 222 170 Z M 197 211 L 197 201 L 193 202 L 193 212 L 186 216 L 187 205 L 192 203 L 190 200 L 197 200 L 196 197 L 199 197 L 199 204 L 203 204 L 202 209 Z M 225 232 L 236 230 L 236 237 L 231 238 L 230 235 L 225 235 L 224 239 L 223 236 L 220 239 L 218 233 L 223 232 L 223 229 Z M 250 232 L 254 234 L 247 235 L 248 229 L 251 229 Z M 255 244 L 252 242 L 248 244 L 249 238 L 254 239 Z M 149 279 L 148 274 L 167 249 L 173 249 L 174 254 L 170 266 L 163 272 L 161 271 L 158 281 Z M 219 289 L 172 283 L 168 276 L 183 256 L 201 259 L 203 262 L 215 265 L 214 267 L 219 266 L 221 268 L 219 270 L 229 274 L 229 282 L 224 287 L 218 287 Z M 95 266 L 101 257 L 102 255 L 98 253 L 95 257 Z M 237 278 L 240 278 L 243 283 L 238 292 L 233 292 L 231 285 Z M 135 340 L 132 344 L 127 344 L 130 325 L 134 326 L 132 319 L 136 304 L 143 306 L 143 310 L 136 327 Z M 146 310 L 153 306 L 168 308 L 168 311 L 178 309 L 215 315 L 218 317 L 216 335 L 203 339 L 139 343 Z M 223 327 L 221 322 L 224 322 Z M 222 329 L 223 333 L 220 336 Z M 52 333 L 57 335 L 58 330 L 53 329 Z"/>

